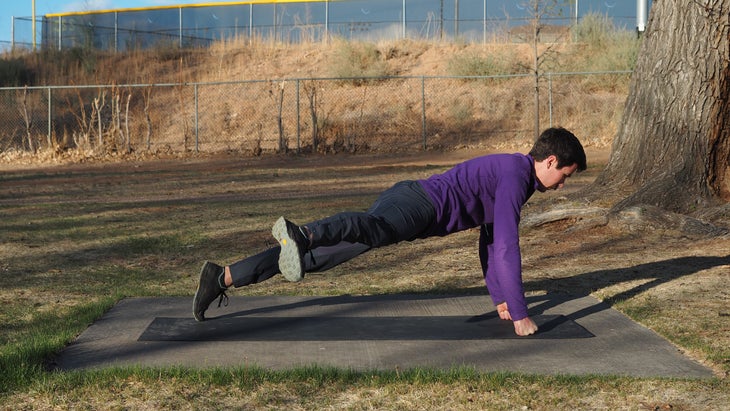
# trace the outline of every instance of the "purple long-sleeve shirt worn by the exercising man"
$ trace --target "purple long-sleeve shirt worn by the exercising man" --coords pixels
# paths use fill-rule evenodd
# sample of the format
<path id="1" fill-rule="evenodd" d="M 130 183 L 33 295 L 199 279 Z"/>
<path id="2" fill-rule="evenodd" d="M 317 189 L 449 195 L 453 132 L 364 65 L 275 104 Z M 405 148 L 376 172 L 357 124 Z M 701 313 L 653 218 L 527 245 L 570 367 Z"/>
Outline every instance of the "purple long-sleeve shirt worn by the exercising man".
<path id="1" fill-rule="evenodd" d="M 436 209 L 431 235 L 493 224 L 493 238 L 480 241 L 479 250 L 489 294 L 495 305 L 507 303 L 514 321 L 527 317 L 518 226 L 522 206 L 538 187 L 532 157 L 477 157 L 420 183 Z"/>

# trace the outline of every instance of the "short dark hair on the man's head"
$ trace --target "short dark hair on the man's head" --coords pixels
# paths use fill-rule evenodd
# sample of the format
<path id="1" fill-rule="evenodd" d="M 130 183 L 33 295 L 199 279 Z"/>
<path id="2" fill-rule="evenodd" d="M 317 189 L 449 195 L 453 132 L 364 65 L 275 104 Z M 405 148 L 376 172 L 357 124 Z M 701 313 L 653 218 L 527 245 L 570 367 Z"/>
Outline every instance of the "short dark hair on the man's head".
<path id="1" fill-rule="evenodd" d="M 530 150 L 535 161 L 542 161 L 551 155 L 558 158 L 558 168 L 578 165 L 578 171 L 586 169 L 586 153 L 578 138 L 562 127 L 552 127 L 540 134 Z"/>

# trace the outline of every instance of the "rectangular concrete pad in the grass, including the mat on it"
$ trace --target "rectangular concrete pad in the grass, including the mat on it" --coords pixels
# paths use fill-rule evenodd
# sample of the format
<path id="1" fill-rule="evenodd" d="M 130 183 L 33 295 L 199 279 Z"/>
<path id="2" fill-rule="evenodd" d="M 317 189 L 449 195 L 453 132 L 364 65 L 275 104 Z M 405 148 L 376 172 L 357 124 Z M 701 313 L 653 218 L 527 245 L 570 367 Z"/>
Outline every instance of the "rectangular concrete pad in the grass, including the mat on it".
<path id="1" fill-rule="evenodd" d="M 285 369 L 317 364 L 356 370 L 465 366 L 533 374 L 713 375 L 593 297 L 544 295 L 528 302 L 542 330 L 515 338 L 504 332 L 511 330 L 511 323 L 497 318 L 485 295 L 232 297 L 228 307 L 219 309 L 214 303 L 203 323 L 192 320 L 192 297 L 130 298 L 66 347 L 55 365 L 63 370 L 128 365 Z M 302 327 L 302 321 L 311 329 Z"/>

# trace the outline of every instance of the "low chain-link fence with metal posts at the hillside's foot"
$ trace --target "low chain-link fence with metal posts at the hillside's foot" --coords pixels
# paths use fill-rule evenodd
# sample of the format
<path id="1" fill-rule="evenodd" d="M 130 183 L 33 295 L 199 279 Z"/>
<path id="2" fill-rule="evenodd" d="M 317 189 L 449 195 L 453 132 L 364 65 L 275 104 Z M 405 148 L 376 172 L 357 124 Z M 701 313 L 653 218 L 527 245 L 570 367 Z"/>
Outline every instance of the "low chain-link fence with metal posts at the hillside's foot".
<path id="1" fill-rule="evenodd" d="M 589 144 L 612 138 L 629 76 L 542 76 L 540 127 L 565 126 Z M 495 144 L 534 137 L 534 94 L 528 75 L 0 88 L 0 151 L 260 155 Z"/>

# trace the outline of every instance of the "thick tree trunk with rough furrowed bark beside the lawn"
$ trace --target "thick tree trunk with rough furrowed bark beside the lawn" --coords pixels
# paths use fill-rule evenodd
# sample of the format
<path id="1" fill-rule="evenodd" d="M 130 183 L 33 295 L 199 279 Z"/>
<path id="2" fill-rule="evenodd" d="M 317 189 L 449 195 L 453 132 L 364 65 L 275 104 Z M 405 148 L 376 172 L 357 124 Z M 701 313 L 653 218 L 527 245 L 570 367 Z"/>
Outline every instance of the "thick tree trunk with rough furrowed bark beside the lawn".
<path id="1" fill-rule="evenodd" d="M 589 195 L 688 213 L 730 201 L 730 0 L 655 1 Z"/>

